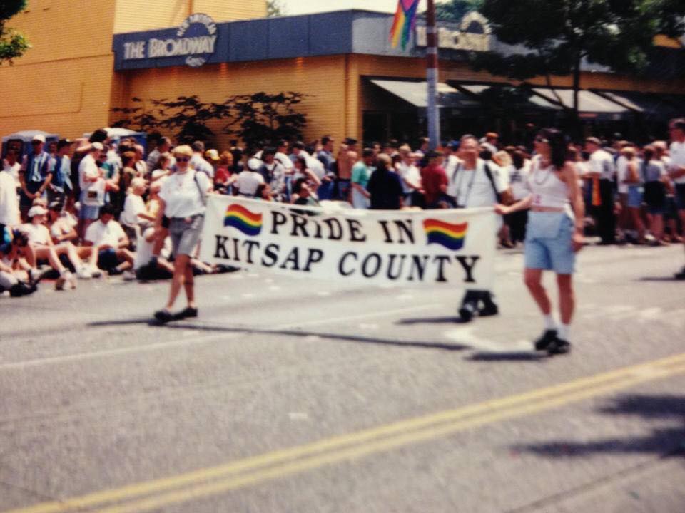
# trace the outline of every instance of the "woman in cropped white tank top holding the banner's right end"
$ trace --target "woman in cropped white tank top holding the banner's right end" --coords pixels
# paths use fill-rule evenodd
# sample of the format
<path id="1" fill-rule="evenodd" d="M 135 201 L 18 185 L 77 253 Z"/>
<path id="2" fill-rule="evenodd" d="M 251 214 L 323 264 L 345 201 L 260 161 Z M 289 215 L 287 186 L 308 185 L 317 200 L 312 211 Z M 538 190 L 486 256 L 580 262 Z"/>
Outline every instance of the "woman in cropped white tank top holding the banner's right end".
<path id="1" fill-rule="evenodd" d="M 544 332 L 535 348 L 549 354 L 567 353 L 575 306 L 572 276 L 575 253 L 583 246 L 584 204 L 574 163 L 568 160 L 564 135 L 545 128 L 535 138 L 536 157 L 527 180 L 529 196 L 510 207 L 497 205 L 498 214 L 530 209 L 526 227 L 524 281 L 544 317 Z M 542 286 L 542 271 L 557 273 L 559 314 L 557 327 L 552 304 Z"/>

